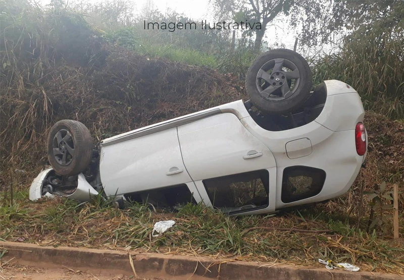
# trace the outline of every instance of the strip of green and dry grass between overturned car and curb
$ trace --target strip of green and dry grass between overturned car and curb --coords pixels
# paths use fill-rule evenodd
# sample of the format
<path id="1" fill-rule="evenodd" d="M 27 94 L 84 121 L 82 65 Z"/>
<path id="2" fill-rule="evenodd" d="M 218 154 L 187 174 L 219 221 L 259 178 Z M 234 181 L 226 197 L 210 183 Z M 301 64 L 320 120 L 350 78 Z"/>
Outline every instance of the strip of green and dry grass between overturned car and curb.
<path id="1" fill-rule="evenodd" d="M 279 215 L 230 217 L 200 204 L 188 204 L 172 213 L 142 204 L 120 210 L 101 199 L 84 204 L 62 198 L 33 203 L 22 199 L 25 195 L 19 197 L 12 207 L 0 206 L 0 239 L 313 267 L 320 267 L 317 258 L 329 258 L 359 265 L 362 270 L 404 274 L 400 257 L 404 249 L 399 243 L 381 238 L 375 231 L 368 234 L 357 229 L 346 215 L 331 217 L 324 205 Z M 158 238 L 151 237 L 154 223 L 167 219 L 175 220 L 175 226 Z M 250 230 L 255 227 L 259 228 Z M 299 229 L 329 232 L 293 231 Z"/>

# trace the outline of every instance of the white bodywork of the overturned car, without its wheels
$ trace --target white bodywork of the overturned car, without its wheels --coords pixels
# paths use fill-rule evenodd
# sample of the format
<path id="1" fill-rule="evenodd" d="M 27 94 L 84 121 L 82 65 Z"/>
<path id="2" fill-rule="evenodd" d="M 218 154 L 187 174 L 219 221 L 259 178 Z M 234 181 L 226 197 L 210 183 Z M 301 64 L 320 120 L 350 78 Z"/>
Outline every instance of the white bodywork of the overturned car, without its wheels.
<path id="1" fill-rule="evenodd" d="M 355 135 L 365 112 L 355 89 L 336 80 L 325 85 L 319 116 L 292 129 L 264 129 L 239 100 L 105 139 L 98 144 L 97 185 L 80 174 L 66 196 L 85 201 L 103 192 L 154 204 L 159 191 L 166 203 L 189 193 L 193 202 L 229 214 L 268 213 L 340 196 L 366 157 L 358 154 Z M 34 180 L 31 200 L 43 196 L 50 172 Z"/>

